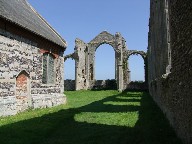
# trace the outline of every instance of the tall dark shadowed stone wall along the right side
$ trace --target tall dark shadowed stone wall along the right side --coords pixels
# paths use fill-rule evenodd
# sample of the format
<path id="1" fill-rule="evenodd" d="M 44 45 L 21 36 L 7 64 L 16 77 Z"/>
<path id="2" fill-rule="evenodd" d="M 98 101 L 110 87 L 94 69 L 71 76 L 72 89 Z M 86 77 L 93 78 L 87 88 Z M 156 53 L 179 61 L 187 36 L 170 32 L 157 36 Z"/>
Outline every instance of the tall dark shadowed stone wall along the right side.
<path id="1" fill-rule="evenodd" d="M 184 143 L 192 143 L 192 1 L 151 0 L 149 91 Z"/>

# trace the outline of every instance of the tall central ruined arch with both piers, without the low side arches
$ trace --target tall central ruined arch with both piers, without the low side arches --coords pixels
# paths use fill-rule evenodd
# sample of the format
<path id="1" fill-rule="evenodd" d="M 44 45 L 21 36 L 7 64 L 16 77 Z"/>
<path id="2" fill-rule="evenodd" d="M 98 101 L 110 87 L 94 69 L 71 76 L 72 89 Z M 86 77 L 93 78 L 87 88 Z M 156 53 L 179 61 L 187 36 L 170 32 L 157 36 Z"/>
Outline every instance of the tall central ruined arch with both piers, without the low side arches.
<path id="1" fill-rule="evenodd" d="M 112 35 L 107 31 L 101 32 L 89 43 L 80 39 L 75 40 L 76 60 L 76 90 L 91 89 L 95 83 L 95 52 L 102 44 L 109 44 L 115 51 L 115 73 L 118 90 L 123 86 L 123 53 L 126 51 L 125 40 L 120 33 Z"/>

